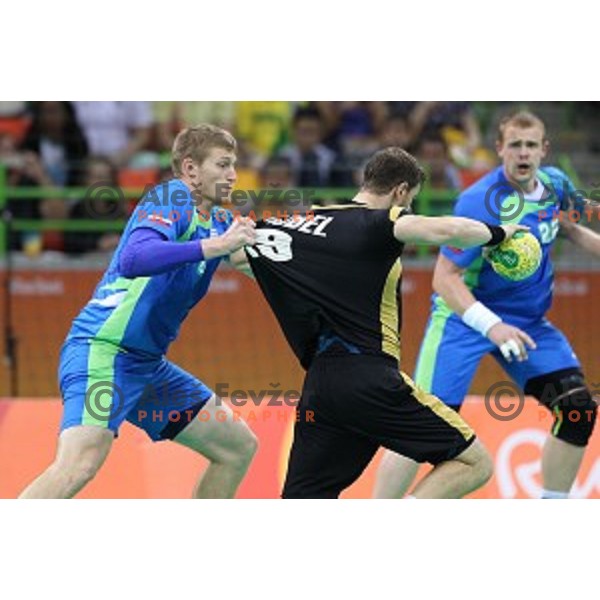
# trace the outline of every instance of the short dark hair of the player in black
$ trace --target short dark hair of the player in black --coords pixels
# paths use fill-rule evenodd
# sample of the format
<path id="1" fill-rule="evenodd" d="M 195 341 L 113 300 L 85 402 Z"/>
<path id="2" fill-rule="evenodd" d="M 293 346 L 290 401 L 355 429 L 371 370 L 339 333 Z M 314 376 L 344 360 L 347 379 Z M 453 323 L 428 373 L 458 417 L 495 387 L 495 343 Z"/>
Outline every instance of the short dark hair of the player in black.
<path id="1" fill-rule="evenodd" d="M 376 152 L 365 166 L 363 189 L 375 194 L 388 194 L 396 186 L 406 183 L 409 189 L 426 179 L 417 159 L 398 146 Z"/>

